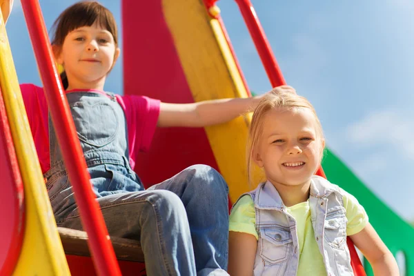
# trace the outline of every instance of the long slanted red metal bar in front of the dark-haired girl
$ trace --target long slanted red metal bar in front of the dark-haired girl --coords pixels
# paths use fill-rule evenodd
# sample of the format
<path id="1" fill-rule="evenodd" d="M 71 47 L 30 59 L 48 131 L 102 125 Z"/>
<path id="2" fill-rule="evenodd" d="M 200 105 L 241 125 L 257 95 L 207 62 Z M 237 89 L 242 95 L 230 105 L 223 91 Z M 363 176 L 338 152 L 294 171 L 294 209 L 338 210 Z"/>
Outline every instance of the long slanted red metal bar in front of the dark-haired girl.
<path id="1" fill-rule="evenodd" d="M 26 23 L 46 92 L 53 125 L 63 161 L 75 193 L 83 228 L 88 233 L 89 247 L 99 275 L 121 275 L 108 230 L 90 186 L 86 161 L 77 138 L 75 125 L 55 66 L 48 32 L 38 0 L 21 0 Z"/>

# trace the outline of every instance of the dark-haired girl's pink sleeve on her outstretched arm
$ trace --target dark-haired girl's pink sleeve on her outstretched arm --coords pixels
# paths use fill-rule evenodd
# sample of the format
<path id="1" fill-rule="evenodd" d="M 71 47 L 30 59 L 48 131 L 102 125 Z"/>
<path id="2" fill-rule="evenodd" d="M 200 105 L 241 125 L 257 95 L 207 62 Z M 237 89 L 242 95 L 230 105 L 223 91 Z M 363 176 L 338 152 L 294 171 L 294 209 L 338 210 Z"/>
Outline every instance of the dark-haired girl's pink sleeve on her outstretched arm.
<path id="1" fill-rule="evenodd" d="M 125 112 L 130 165 L 133 169 L 137 153 L 146 152 L 150 148 L 157 128 L 160 101 L 145 96 L 118 96 L 117 99 Z"/>

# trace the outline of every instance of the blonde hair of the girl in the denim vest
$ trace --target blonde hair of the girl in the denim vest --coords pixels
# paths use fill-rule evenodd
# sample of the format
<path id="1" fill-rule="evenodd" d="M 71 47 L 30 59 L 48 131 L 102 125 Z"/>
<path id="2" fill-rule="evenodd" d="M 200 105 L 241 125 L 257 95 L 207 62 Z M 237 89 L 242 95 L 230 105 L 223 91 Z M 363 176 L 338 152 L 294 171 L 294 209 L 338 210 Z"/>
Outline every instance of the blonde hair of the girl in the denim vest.
<path id="1" fill-rule="evenodd" d="M 294 88 L 290 86 L 279 86 L 273 88 L 272 91 L 266 93 L 264 97 L 260 100 L 255 112 L 253 113 L 253 118 L 250 123 L 250 128 L 248 132 L 248 146 L 247 146 L 247 171 L 248 171 L 248 183 L 252 184 L 252 175 L 253 175 L 253 166 L 252 162 L 253 152 L 257 148 L 257 143 L 262 135 L 262 129 L 264 125 L 264 116 L 270 110 L 275 108 L 284 108 L 288 110 L 300 110 L 308 109 L 311 110 L 312 114 L 315 116 L 315 121 L 317 124 L 317 138 L 321 141 L 324 140 L 324 132 L 322 131 L 322 124 L 319 121 L 315 108 L 312 104 L 302 96 L 296 94 Z M 323 155 L 324 148 L 321 149 L 321 160 Z"/>

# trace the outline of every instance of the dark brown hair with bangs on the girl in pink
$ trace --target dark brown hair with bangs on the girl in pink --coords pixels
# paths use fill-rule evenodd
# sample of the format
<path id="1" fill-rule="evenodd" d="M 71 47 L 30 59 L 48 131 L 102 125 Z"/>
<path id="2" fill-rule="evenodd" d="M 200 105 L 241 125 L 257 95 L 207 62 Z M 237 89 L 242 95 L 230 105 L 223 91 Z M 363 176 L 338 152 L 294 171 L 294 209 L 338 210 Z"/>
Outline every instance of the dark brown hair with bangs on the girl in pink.
<path id="1" fill-rule="evenodd" d="M 69 32 L 84 26 L 92 26 L 94 23 L 112 34 L 117 47 L 118 30 L 114 15 L 97 1 L 80 1 L 63 10 L 52 26 L 52 45 L 61 47 Z M 61 73 L 61 79 L 63 87 L 68 88 L 65 72 Z"/>

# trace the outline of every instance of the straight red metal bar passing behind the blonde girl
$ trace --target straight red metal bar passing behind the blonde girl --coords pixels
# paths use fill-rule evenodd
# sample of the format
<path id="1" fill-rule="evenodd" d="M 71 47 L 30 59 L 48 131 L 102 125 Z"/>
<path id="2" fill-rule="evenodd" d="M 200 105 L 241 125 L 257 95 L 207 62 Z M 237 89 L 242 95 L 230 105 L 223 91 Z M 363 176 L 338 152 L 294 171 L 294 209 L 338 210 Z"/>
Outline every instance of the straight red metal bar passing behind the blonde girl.
<path id="1" fill-rule="evenodd" d="M 244 21 L 246 21 L 246 25 L 255 43 L 257 52 L 259 52 L 260 59 L 262 59 L 262 63 L 264 65 L 264 68 L 266 69 L 266 73 L 268 75 L 270 83 L 273 87 L 286 84 L 286 81 L 284 80 L 284 77 L 282 75 L 282 71 L 277 65 L 275 55 L 273 54 L 273 51 L 270 48 L 270 44 L 268 43 L 266 34 L 264 33 L 262 25 L 260 24 L 260 21 L 257 18 L 257 14 L 255 12 L 255 9 L 253 8 L 252 3 L 250 2 L 250 0 L 235 1 L 239 5 L 239 9 L 242 12 Z M 318 168 L 316 175 L 326 178 L 322 166 Z M 353 267 L 355 275 L 366 275 L 364 267 L 362 266 L 361 261 L 359 260 L 359 257 L 357 255 L 357 250 L 355 249 L 355 246 L 353 245 L 351 239 L 347 239 L 347 244 L 349 252 L 351 254 L 351 266 Z"/>

